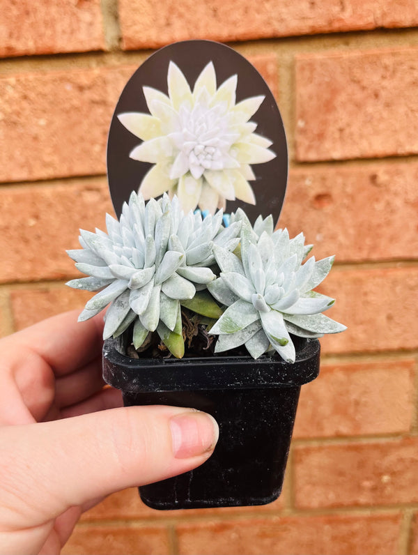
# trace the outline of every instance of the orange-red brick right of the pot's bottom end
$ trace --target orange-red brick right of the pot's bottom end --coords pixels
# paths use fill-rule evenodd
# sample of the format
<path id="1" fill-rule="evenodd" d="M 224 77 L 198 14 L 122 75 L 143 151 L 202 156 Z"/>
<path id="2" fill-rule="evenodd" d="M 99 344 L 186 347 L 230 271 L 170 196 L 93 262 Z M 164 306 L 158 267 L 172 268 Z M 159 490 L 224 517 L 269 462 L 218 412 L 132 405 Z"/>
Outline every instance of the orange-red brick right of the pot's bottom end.
<path id="1" fill-rule="evenodd" d="M 418 438 L 295 446 L 297 508 L 418 502 Z"/>

